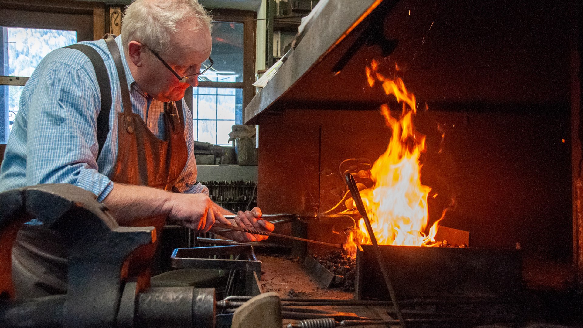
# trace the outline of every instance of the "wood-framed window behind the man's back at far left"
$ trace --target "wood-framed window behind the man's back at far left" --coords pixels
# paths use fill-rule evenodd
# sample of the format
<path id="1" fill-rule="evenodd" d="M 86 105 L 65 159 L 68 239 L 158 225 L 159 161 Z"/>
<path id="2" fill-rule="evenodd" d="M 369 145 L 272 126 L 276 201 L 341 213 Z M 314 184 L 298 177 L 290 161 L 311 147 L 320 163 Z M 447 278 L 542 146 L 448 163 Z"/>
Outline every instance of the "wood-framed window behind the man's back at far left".
<path id="1" fill-rule="evenodd" d="M 18 111 L 20 92 L 55 48 L 103 35 L 104 5 L 61 0 L 2 1 L 0 6 L 0 160 Z M 95 23 L 95 25 L 94 25 Z"/>

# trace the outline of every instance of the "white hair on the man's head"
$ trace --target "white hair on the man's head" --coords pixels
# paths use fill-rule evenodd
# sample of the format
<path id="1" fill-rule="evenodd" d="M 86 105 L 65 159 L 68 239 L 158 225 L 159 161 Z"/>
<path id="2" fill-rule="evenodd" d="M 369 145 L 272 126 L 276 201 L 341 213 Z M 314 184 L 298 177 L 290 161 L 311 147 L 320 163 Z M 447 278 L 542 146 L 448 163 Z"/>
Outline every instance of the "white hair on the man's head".
<path id="1" fill-rule="evenodd" d="M 136 0 L 125 10 L 121 37 L 127 50 L 130 41 L 138 41 L 159 53 L 171 50 L 171 37 L 184 19 L 194 19 L 192 31 L 212 29 L 209 12 L 198 0 Z"/>

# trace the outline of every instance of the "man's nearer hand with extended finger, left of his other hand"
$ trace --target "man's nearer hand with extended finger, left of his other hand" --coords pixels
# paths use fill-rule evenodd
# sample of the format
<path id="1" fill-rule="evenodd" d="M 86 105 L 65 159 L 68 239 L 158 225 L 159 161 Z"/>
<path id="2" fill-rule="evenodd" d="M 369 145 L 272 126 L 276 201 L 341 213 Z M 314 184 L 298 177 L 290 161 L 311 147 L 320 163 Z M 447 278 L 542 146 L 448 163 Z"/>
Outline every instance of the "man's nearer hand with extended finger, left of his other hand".
<path id="1" fill-rule="evenodd" d="M 173 194 L 171 204 L 168 219 L 197 232 L 209 231 L 215 221 L 231 224 L 205 194 Z"/>

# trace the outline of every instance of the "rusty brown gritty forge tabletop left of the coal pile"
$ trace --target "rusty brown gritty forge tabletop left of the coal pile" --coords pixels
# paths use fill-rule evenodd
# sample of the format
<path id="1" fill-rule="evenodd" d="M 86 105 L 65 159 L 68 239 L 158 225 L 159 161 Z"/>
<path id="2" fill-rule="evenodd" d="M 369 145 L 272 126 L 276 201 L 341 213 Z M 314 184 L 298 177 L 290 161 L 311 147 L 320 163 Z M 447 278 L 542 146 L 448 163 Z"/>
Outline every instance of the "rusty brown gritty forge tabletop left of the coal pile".
<path id="1" fill-rule="evenodd" d="M 310 277 L 303 261 L 289 256 L 257 256 L 262 261 L 262 292 L 276 292 L 282 298 L 309 297 L 353 299 L 352 292 L 339 288 L 325 288 Z"/>

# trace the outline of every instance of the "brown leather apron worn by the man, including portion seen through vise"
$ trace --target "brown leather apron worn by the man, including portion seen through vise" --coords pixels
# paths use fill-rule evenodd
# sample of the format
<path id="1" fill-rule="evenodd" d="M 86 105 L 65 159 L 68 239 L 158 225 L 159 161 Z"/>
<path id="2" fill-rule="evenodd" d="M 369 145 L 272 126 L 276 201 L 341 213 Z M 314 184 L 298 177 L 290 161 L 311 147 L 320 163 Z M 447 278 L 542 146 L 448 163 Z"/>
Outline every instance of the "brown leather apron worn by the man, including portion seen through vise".
<path id="1" fill-rule="evenodd" d="M 174 102 L 164 104 L 166 137 L 158 139 L 139 114 L 132 112 L 127 78 L 120 50 L 113 37 L 107 47 L 120 79 L 123 111 L 118 113 L 118 150 L 113 176 L 115 183 L 171 190 L 188 158 L 184 140 L 184 118 Z M 181 106 L 180 106 L 181 107 Z M 134 226 L 154 226 L 160 240 L 166 216 L 137 219 Z M 33 298 L 66 292 L 66 250 L 57 232 L 44 226 L 24 226 L 12 250 L 12 277 L 17 298 Z M 149 285 L 149 266 L 157 243 L 137 249 L 129 261 L 129 276 Z"/>

